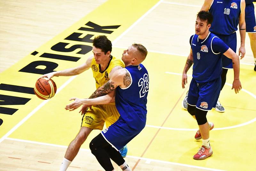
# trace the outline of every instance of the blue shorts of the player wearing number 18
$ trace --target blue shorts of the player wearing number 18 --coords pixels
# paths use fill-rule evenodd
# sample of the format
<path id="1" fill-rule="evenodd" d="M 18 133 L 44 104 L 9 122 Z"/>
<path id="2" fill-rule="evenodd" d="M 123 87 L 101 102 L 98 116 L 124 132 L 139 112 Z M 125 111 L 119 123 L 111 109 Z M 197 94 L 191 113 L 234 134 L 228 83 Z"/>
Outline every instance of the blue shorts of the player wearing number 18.
<path id="1" fill-rule="evenodd" d="M 223 40 L 229 47 L 236 53 L 236 32 L 230 34 L 230 35 L 220 35 L 215 34 Z M 222 58 L 222 68 L 231 69 L 233 68 L 232 59 L 226 57 L 225 55 L 221 54 Z"/>

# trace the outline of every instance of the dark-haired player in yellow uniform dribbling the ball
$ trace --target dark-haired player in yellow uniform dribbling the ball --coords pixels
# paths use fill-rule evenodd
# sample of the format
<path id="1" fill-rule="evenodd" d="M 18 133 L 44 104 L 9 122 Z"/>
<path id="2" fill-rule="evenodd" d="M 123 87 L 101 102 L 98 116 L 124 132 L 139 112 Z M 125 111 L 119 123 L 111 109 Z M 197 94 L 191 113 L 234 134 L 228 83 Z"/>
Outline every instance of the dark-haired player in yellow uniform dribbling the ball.
<path id="1" fill-rule="evenodd" d="M 121 60 L 116 59 L 110 54 L 112 51 L 112 43 L 106 36 L 95 37 L 92 43 L 93 56 L 89 57 L 84 64 L 76 68 L 48 73 L 40 78 L 47 77 L 47 79 L 50 80 L 50 78 L 54 76 L 73 76 L 92 68 L 93 77 L 96 81 L 96 89 L 98 89 L 111 79 L 113 73 L 117 69 L 124 68 L 124 64 Z M 116 122 L 120 116 L 116 110 L 114 102 L 93 106 L 84 105 L 80 112 L 84 114 L 80 131 L 76 135 L 76 138 L 69 144 L 65 157 L 61 163 L 60 171 L 67 170 L 72 160 L 76 157 L 81 145 L 93 129 L 102 130 L 105 122 L 108 127 Z M 120 153 L 125 157 L 127 154 L 127 147 L 125 146 L 122 150 L 123 151 L 120 151 Z"/>

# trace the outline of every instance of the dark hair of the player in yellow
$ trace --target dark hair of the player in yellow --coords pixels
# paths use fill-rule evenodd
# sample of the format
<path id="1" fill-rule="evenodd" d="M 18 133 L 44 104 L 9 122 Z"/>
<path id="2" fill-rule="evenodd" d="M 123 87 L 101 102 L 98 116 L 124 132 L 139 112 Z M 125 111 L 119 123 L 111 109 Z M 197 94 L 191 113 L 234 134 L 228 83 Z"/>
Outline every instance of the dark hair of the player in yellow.
<path id="1" fill-rule="evenodd" d="M 97 36 L 93 39 L 92 45 L 96 48 L 100 48 L 105 54 L 108 51 L 112 51 L 112 43 L 107 36 Z"/>

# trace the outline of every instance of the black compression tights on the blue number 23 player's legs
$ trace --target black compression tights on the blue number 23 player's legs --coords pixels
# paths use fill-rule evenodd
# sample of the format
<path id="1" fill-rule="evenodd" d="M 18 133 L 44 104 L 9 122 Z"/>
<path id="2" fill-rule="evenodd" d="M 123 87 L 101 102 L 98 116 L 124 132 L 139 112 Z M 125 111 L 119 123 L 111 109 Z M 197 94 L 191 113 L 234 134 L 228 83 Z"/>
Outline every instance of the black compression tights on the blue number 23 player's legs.
<path id="1" fill-rule="evenodd" d="M 124 164 L 124 159 L 115 148 L 113 148 L 101 135 L 97 135 L 92 141 L 90 142 L 90 149 L 92 154 L 97 158 L 100 165 L 106 171 L 114 170 L 114 167 L 110 161 L 112 159 L 118 166 Z"/>

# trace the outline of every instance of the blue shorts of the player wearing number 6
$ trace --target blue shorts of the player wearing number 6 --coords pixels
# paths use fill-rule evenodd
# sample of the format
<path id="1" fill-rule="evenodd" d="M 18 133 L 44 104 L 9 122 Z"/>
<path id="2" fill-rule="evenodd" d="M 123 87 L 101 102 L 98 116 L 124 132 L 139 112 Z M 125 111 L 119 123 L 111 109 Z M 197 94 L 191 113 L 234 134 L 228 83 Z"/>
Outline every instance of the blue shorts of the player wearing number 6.
<path id="1" fill-rule="evenodd" d="M 220 96 L 221 78 L 210 82 L 197 83 L 192 78 L 188 90 L 188 104 L 201 110 L 215 108 Z"/>

